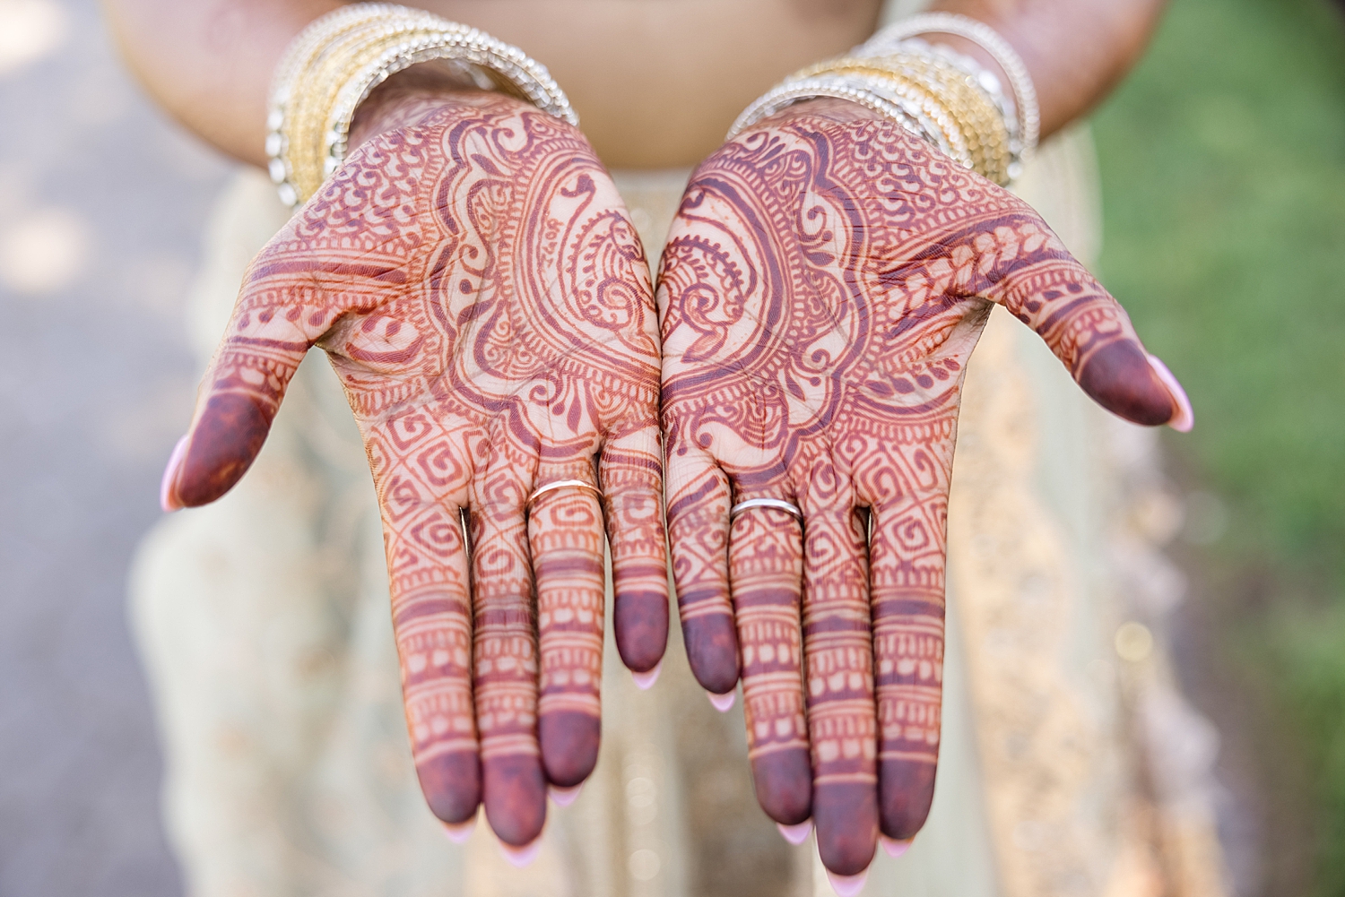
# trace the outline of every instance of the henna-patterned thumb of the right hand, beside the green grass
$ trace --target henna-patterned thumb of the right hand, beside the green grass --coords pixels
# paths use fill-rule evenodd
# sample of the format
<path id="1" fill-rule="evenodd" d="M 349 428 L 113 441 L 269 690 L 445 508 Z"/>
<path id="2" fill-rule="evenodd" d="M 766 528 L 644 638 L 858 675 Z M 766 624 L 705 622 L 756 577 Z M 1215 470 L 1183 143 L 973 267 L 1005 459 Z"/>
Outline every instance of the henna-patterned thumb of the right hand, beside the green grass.
<path id="1" fill-rule="evenodd" d="M 1126 309 L 1033 215 L 978 234 L 983 296 L 1032 327 L 1069 368 L 1075 382 L 1108 412 L 1134 424 L 1194 424 L 1186 391 L 1145 351 Z"/>

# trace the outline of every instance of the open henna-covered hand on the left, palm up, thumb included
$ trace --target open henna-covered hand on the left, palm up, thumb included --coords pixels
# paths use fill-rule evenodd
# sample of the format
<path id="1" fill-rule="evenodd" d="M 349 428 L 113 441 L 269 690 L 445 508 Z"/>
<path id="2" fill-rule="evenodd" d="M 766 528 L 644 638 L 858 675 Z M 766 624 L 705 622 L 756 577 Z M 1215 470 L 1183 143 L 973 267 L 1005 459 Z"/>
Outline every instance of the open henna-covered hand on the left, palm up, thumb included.
<path id="1" fill-rule="evenodd" d="M 547 784 L 597 760 L 604 522 L 623 659 L 652 668 L 667 636 L 658 334 L 635 229 L 584 137 L 525 104 L 457 95 L 385 130 L 254 261 L 167 506 L 242 476 L 313 344 L 378 490 L 426 799 L 447 823 L 484 800 L 526 845 Z M 600 485 L 601 504 L 586 488 L 526 503 L 558 480 Z"/>

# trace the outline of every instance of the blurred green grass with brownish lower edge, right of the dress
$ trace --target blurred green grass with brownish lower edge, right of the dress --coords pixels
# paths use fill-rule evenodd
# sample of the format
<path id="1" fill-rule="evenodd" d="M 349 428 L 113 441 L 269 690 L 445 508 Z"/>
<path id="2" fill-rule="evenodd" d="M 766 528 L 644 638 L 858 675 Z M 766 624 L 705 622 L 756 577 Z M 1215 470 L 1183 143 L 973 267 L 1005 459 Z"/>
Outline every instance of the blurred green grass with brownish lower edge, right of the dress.
<path id="1" fill-rule="evenodd" d="M 1177 467 L 1229 510 L 1202 619 L 1293 792 L 1264 893 L 1345 896 L 1345 12 L 1174 0 L 1095 133 L 1102 274 L 1190 393 Z M 1298 836 L 1311 869 L 1276 869 Z"/>

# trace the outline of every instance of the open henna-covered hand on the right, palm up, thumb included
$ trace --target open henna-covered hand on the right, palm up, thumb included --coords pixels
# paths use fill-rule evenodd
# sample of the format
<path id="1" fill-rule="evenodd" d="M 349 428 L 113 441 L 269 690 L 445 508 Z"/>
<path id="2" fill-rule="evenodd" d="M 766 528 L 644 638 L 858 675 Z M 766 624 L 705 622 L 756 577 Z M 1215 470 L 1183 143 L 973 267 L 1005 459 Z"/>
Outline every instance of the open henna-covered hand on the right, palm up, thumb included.
<path id="1" fill-rule="evenodd" d="M 695 172 L 659 278 L 668 531 L 697 679 L 742 678 L 753 777 L 833 873 L 933 795 L 944 535 L 993 303 L 1102 405 L 1184 422 L 1124 311 L 1021 200 L 839 101 Z M 1174 421 L 1174 418 L 1177 418 Z M 733 503 L 798 504 L 729 519 Z"/>

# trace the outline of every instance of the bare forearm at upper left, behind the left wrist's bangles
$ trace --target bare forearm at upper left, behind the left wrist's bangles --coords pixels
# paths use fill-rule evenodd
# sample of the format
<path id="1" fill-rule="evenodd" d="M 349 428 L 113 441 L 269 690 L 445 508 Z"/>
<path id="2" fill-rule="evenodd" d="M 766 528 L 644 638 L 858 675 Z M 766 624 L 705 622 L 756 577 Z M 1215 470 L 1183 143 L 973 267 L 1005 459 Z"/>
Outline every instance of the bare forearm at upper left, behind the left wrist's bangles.
<path id="1" fill-rule="evenodd" d="M 102 0 L 126 65 L 218 149 L 266 164 L 266 93 L 285 44 L 339 0 Z"/>

